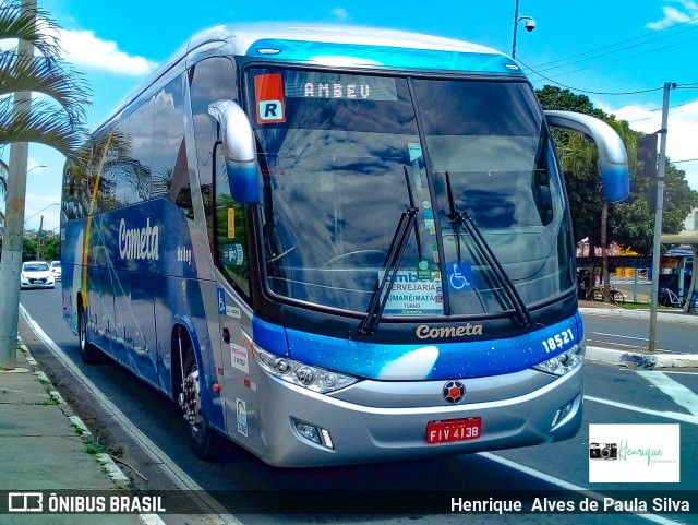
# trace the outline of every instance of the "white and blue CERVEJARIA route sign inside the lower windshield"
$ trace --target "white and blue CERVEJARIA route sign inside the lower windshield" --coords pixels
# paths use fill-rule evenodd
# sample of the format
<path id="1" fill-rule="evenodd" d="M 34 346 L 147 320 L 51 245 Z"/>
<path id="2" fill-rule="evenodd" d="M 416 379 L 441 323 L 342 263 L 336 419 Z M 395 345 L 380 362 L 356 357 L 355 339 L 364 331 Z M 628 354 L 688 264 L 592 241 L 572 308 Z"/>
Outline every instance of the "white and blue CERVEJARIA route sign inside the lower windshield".
<path id="1" fill-rule="evenodd" d="M 383 279 L 383 275 L 382 270 L 378 272 L 378 279 Z M 400 315 L 443 315 L 444 295 L 441 287 L 441 273 L 431 272 L 428 279 L 420 281 L 414 271 L 398 271 L 384 312 Z"/>

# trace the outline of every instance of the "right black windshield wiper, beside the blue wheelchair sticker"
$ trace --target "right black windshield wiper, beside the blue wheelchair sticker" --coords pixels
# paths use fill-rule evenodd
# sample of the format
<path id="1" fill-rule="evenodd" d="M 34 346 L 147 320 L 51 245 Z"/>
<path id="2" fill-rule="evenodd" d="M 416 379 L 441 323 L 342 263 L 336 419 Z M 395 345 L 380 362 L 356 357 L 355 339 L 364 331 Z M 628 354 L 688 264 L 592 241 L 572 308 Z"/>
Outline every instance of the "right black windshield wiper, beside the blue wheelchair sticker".
<path id="1" fill-rule="evenodd" d="M 470 238 L 494 273 L 494 276 L 502 285 L 502 288 L 504 288 L 504 293 L 516 310 L 519 324 L 521 326 L 532 326 L 533 320 L 531 318 L 531 312 L 526 307 L 526 303 L 521 299 L 521 296 L 519 296 L 519 293 L 516 290 L 514 283 L 512 283 L 512 279 L 504 271 L 504 267 L 502 267 L 502 263 L 492 251 L 492 248 L 480 232 L 480 228 L 478 228 L 478 225 L 476 225 L 474 220 L 468 214 L 468 212 L 456 210 L 456 205 L 454 203 L 454 191 L 453 187 L 450 186 L 450 177 L 448 176 L 448 171 L 446 171 L 446 191 L 448 195 L 448 207 L 450 212 L 448 215 L 448 220 L 450 220 L 456 235 L 456 253 L 458 258 L 458 265 L 460 265 L 461 262 L 459 230 L 462 226 L 468 235 L 470 235 Z"/>

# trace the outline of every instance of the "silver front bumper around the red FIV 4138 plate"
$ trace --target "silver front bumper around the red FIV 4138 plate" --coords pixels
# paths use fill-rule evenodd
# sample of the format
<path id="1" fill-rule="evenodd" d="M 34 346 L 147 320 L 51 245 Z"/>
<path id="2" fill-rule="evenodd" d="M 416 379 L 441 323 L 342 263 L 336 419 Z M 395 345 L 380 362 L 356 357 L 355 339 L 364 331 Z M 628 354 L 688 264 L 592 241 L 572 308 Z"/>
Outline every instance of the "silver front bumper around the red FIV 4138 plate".
<path id="1" fill-rule="evenodd" d="M 581 425 L 582 370 L 579 366 L 562 378 L 531 370 L 500 375 L 490 379 L 495 383 L 508 382 L 506 390 L 516 394 L 509 397 L 495 395 L 491 401 L 483 401 L 480 395 L 474 396 L 472 403 L 468 403 L 466 395 L 465 404 L 416 407 L 370 406 L 370 396 L 365 393 L 360 396 L 362 403 L 358 404 L 338 398 L 344 395 L 342 391 L 333 395 L 316 394 L 262 373 L 258 393 L 264 445 L 257 452 L 272 465 L 299 467 L 473 453 L 569 439 Z M 543 374 L 543 380 L 538 381 L 533 390 L 528 389 L 532 384 L 531 373 Z M 461 380 L 466 391 L 470 389 L 469 381 Z M 376 393 L 374 399 L 374 405 L 380 405 L 390 390 L 394 394 L 399 391 L 400 395 L 407 395 L 411 389 L 423 391 L 425 385 L 442 389 L 444 381 L 374 383 L 381 385 L 382 392 Z M 350 393 L 345 397 L 356 398 Z M 468 417 L 481 418 L 480 438 L 426 443 L 429 421 Z M 334 449 L 303 438 L 296 422 L 326 430 Z"/>

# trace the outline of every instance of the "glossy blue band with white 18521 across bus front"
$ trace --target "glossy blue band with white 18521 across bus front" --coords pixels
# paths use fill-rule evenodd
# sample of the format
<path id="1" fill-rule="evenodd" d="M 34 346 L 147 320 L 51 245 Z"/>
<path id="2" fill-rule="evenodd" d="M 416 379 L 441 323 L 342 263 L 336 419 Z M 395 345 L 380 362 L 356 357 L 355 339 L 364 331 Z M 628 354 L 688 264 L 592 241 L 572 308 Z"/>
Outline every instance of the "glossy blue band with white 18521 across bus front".
<path id="1" fill-rule="evenodd" d="M 365 379 L 417 381 L 497 375 L 525 370 L 571 348 L 579 342 L 579 314 L 561 323 L 507 339 L 384 345 L 287 330 L 289 355 L 308 365 Z M 261 322 L 255 322 L 255 329 Z M 282 331 L 269 331 L 255 341 L 281 354 Z M 486 334 L 486 325 L 485 325 Z M 269 335 L 274 333 L 275 337 Z M 255 330 L 255 338 L 262 333 Z M 492 334 L 496 335 L 496 334 Z M 269 346 L 273 343 L 276 350 Z"/>

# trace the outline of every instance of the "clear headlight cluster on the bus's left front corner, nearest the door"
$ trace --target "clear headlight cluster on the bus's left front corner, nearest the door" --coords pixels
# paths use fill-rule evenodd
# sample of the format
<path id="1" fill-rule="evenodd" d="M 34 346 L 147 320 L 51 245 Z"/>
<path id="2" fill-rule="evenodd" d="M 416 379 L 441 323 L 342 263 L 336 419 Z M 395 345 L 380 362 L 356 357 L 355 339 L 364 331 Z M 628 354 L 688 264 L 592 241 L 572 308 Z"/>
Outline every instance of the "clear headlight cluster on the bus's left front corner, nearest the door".
<path id="1" fill-rule="evenodd" d="M 344 389 L 358 381 L 352 375 L 312 367 L 288 357 L 275 356 L 256 345 L 253 346 L 252 353 L 260 366 L 272 375 L 321 394 Z"/>

